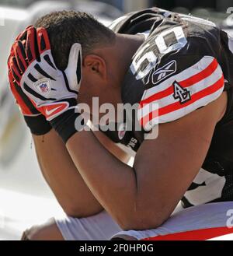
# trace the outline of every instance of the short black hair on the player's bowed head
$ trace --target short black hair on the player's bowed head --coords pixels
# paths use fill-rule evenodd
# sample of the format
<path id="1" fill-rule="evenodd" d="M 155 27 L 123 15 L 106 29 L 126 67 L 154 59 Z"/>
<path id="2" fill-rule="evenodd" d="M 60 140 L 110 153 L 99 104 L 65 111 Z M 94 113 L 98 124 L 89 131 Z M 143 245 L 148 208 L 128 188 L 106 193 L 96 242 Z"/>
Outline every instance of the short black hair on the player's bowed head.
<path id="1" fill-rule="evenodd" d="M 82 45 L 82 55 L 101 45 L 113 44 L 115 33 L 85 12 L 51 12 L 35 23 L 35 27 L 47 30 L 51 51 L 57 68 L 68 65 L 68 54 L 72 44 Z"/>

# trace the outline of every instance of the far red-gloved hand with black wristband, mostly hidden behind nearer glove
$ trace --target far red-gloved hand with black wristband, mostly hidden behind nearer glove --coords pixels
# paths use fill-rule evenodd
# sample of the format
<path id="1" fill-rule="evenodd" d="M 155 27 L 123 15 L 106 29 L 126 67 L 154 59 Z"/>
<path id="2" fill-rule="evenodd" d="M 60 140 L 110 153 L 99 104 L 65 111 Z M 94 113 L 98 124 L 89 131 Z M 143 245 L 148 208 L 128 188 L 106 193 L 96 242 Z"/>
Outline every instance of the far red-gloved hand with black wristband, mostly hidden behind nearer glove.
<path id="1" fill-rule="evenodd" d="M 23 40 L 23 35 L 26 33 L 26 30 L 23 33 L 19 34 L 17 39 Z M 23 114 L 27 126 L 30 128 L 30 131 L 34 135 L 46 134 L 51 129 L 50 123 L 45 119 L 43 114 L 41 114 L 40 111 L 37 110 L 37 107 L 33 105 L 33 102 L 28 98 L 28 96 L 26 96 L 25 93 L 23 93 L 23 90 L 16 82 L 16 79 L 19 79 L 16 73 L 20 73 L 20 71 L 13 51 L 11 51 L 11 54 L 9 56 L 8 68 L 9 86 L 13 96 L 15 97 L 16 103 L 19 105 L 19 109 Z"/>

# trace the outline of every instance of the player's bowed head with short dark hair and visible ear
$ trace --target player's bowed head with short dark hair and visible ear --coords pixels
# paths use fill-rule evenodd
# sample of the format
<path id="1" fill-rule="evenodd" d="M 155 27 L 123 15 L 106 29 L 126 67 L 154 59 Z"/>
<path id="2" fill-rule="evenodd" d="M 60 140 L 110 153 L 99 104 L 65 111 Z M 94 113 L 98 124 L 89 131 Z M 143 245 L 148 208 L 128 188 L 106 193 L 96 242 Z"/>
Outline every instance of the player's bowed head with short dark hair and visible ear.
<path id="1" fill-rule="evenodd" d="M 106 58 L 109 53 L 103 49 L 113 47 L 116 34 L 85 12 L 51 12 L 35 24 L 47 30 L 51 51 L 57 68 L 64 70 L 72 44 L 82 45 L 81 94 L 98 96 L 98 87 L 106 82 L 108 70 Z M 87 86 L 88 85 L 88 86 Z M 86 100 L 82 100 L 86 101 Z"/>

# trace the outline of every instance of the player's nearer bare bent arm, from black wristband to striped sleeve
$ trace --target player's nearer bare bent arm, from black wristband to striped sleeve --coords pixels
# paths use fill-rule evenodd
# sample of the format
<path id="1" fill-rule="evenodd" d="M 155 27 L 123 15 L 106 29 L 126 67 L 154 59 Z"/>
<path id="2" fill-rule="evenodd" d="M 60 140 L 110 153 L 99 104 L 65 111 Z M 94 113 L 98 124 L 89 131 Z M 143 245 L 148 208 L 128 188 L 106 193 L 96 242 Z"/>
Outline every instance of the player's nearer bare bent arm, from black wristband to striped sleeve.
<path id="1" fill-rule="evenodd" d="M 223 93 L 207 107 L 161 124 L 158 139 L 142 143 L 134 167 L 117 160 L 92 132 L 73 135 L 68 152 L 92 194 L 124 230 L 160 226 L 200 170 L 225 103 Z"/>

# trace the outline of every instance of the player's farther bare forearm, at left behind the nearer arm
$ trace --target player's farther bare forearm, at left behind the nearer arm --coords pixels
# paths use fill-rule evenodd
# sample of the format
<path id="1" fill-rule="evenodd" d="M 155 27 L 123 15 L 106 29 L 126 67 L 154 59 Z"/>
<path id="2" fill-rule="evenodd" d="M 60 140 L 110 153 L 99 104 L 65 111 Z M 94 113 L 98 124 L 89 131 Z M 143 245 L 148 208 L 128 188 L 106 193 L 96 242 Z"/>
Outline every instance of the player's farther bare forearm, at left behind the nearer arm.
<path id="1" fill-rule="evenodd" d="M 64 211 L 71 216 L 92 216 L 103 208 L 86 186 L 64 143 L 54 130 L 33 135 L 43 177 Z"/>

